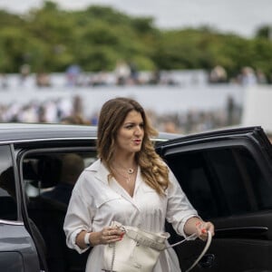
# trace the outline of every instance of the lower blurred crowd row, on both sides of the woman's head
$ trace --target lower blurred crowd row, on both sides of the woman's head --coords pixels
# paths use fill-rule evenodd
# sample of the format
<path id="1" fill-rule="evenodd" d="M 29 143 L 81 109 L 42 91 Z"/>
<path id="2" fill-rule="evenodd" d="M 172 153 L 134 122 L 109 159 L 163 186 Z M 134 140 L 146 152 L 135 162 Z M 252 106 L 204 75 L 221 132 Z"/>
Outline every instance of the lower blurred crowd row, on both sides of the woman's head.
<path id="1" fill-rule="evenodd" d="M 0 103 L 0 122 L 44 122 L 96 125 L 99 112 L 83 114 L 83 101 L 79 95 L 71 98 L 48 99 L 44 102 Z M 159 131 L 191 133 L 238 124 L 241 109 L 228 99 L 226 108 L 210 111 L 190 110 L 170 114 L 158 114 L 151 109 L 147 114 Z"/>

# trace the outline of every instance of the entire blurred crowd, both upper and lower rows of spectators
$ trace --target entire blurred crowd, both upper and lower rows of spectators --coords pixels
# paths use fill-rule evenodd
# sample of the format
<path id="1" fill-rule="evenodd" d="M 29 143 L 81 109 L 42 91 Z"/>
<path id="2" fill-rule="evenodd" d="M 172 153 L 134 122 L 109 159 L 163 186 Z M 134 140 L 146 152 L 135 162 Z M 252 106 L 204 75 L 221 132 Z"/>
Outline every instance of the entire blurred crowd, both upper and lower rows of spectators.
<path id="1" fill-rule="evenodd" d="M 58 77 L 59 79 L 60 77 Z M 226 70 L 222 66 L 216 66 L 211 71 L 153 71 L 141 72 L 134 63 L 120 61 L 116 63 L 114 71 L 84 73 L 77 64 L 71 64 L 61 76 L 64 79 L 63 86 L 105 86 L 105 85 L 144 85 L 165 84 L 214 84 L 214 83 L 237 83 L 243 86 L 269 83 L 261 71 L 254 71 L 251 67 L 243 67 L 235 79 L 229 79 Z M 17 83 L 20 86 L 29 86 L 32 80 L 35 89 L 51 87 L 56 83 L 53 74 L 39 72 L 31 73 L 28 64 L 22 65 L 20 73 L 16 74 Z M 12 83 L 5 74 L 0 74 L 0 91 L 12 89 Z M 5 93 L 5 92 L 2 92 Z M 4 94 L 2 94 L 4 95 Z M 99 112 L 92 112 L 90 116 L 83 114 L 83 102 L 79 95 L 70 98 L 47 99 L 46 101 L 29 101 L 27 103 L 12 102 L 3 104 L 0 102 L 0 121 L 22 122 L 48 122 L 48 123 L 82 123 L 96 125 Z M 175 114 L 161 115 L 158 112 L 149 111 L 149 116 L 154 126 L 159 131 L 190 133 L 207 131 L 219 127 L 236 125 L 240 122 L 241 109 L 229 98 L 223 109 L 201 111 L 190 110 Z"/>

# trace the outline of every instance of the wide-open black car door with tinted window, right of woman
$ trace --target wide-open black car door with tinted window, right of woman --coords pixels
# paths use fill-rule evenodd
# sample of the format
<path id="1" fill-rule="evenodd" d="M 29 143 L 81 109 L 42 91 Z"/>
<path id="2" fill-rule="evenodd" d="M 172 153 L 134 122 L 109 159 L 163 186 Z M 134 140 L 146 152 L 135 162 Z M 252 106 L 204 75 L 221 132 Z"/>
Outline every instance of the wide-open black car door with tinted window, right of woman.
<path id="1" fill-rule="evenodd" d="M 262 128 L 186 136 L 157 151 L 199 216 L 215 224 L 209 250 L 193 270 L 272 271 L 272 148 Z M 182 271 L 204 246 L 196 239 L 175 248 Z"/>

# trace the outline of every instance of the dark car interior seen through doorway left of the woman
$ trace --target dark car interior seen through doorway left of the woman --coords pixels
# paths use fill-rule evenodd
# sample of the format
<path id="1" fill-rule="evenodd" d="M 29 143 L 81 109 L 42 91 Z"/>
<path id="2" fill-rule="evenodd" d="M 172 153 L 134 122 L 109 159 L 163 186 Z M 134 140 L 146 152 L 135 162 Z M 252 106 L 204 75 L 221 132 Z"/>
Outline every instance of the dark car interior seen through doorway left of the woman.
<path id="1" fill-rule="evenodd" d="M 63 221 L 73 185 L 94 152 L 31 152 L 23 159 L 28 217 L 51 272 L 84 271 L 88 251 L 78 254 L 66 246 Z M 81 167 L 78 167 L 81 165 Z M 60 189 L 59 189 L 60 188 Z"/>

